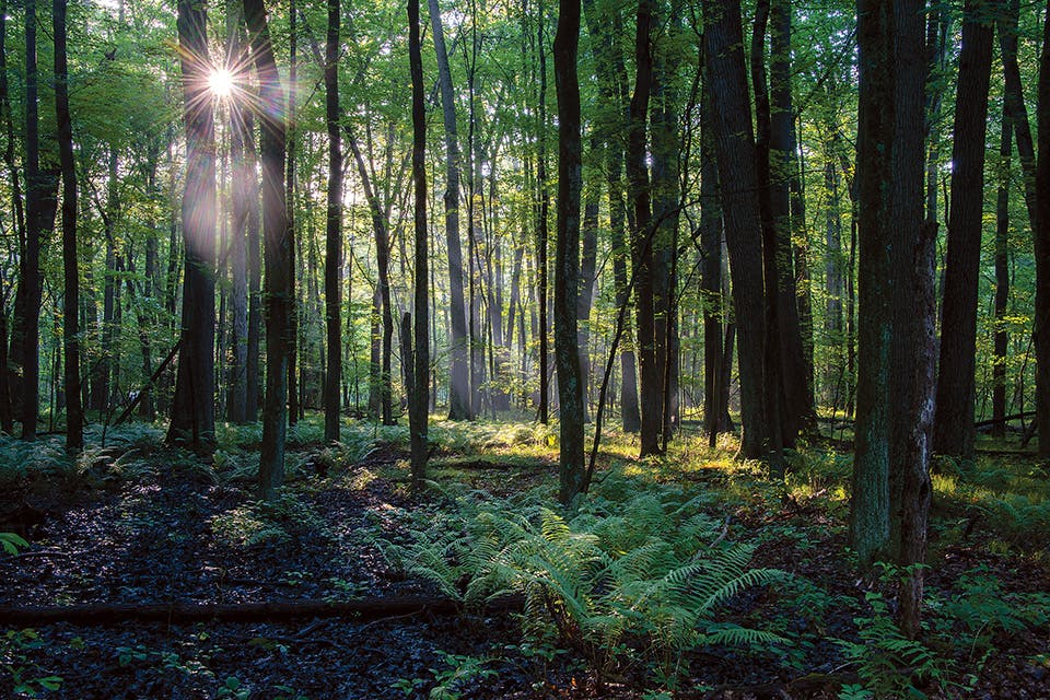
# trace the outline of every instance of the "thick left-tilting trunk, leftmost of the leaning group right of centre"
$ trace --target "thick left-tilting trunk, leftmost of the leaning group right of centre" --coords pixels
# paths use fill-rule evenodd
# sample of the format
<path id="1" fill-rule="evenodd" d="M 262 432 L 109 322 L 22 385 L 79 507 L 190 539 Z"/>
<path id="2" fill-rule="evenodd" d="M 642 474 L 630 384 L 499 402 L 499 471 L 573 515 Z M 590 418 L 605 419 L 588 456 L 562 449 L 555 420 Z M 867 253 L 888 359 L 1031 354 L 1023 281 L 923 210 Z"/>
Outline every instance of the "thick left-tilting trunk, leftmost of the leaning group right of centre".
<path id="1" fill-rule="evenodd" d="M 761 215 L 754 158 L 750 102 L 744 68 L 740 7 L 736 0 L 707 0 L 704 58 L 711 91 L 719 162 L 722 215 L 733 277 L 736 332 L 739 335 L 740 454 L 765 458 L 769 424 L 765 410 L 766 346 Z"/>

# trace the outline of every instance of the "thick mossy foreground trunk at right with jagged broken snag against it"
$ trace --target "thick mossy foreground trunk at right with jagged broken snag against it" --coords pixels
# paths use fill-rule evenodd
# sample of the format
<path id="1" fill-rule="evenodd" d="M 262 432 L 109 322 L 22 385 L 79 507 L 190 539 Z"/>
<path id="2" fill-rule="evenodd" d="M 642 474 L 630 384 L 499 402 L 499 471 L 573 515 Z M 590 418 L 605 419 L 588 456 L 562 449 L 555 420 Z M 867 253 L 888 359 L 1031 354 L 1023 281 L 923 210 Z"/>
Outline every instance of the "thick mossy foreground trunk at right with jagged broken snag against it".
<path id="1" fill-rule="evenodd" d="M 930 504 L 935 232 L 923 225 L 923 0 L 858 3 L 860 328 L 850 538 L 862 567 L 905 570 L 899 616 L 919 631 Z"/>

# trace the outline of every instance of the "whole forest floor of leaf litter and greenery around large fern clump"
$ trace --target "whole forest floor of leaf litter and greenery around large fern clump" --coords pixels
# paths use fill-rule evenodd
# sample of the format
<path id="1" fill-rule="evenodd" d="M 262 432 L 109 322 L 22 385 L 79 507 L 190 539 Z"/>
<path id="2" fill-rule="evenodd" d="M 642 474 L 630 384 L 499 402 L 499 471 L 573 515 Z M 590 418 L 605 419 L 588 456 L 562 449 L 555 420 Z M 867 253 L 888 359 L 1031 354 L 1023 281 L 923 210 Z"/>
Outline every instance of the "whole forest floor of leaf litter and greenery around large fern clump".
<path id="1" fill-rule="evenodd" d="M 419 495 L 407 488 L 405 429 L 345 434 L 325 448 L 316 421 L 293 430 L 285 494 L 272 505 L 254 500 L 258 427 L 224 429 L 212 464 L 145 425 L 75 462 L 58 438 L 0 442 L 0 532 L 31 542 L 0 552 L 0 608 L 442 596 L 397 557 L 418 551 L 413 533 L 465 528 L 454 514 L 482 489 L 552 502 L 557 488 L 547 429 L 440 423 L 433 488 Z M 599 478 L 615 477 L 594 498 L 617 503 L 602 494 L 615 482 L 635 500 L 650 489 L 675 503 L 704 494 L 697 516 L 719 530 L 708 546 L 750 542 L 751 567 L 786 572 L 731 596 L 711 629 L 740 625 L 778 642 L 681 648 L 628 629 L 600 650 L 564 627 L 536 637 L 527 616 L 483 606 L 368 620 L 15 625 L 0 614 L 0 698 L 1050 698 L 1050 475 L 1030 458 L 941 465 L 929 629 L 909 645 L 887 623 L 891 576 L 851 565 L 849 455 L 801 451 L 778 491 L 732 460 L 732 444 L 700 445 L 686 439 L 661 462 L 635 462 L 630 441 L 614 439 Z"/>

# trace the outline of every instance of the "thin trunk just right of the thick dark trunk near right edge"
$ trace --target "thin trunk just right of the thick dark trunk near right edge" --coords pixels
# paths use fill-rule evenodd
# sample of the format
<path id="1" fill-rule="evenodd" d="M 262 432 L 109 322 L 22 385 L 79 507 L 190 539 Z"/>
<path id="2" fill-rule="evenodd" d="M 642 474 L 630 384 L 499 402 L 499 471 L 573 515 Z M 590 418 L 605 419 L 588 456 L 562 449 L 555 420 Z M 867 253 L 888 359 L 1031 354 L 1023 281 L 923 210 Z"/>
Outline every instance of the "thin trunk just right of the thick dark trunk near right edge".
<path id="1" fill-rule="evenodd" d="M 992 434 L 1006 435 L 1006 310 L 1010 302 L 1010 163 L 1013 156 L 1013 127 L 1003 114 L 999 147 L 999 188 L 995 201 L 995 349 L 992 365 Z"/>

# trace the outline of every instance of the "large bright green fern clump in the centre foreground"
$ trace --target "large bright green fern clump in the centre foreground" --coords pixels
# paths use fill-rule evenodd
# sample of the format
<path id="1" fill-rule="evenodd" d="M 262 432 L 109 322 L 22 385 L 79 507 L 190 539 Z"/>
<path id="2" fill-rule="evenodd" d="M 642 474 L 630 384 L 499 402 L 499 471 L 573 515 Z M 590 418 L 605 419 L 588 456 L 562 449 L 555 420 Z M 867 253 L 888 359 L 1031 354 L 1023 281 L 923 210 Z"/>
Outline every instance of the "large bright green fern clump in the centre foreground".
<path id="1" fill-rule="evenodd" d="M 690 650 L 780 640 L 719 621 L 740 591 L 783 574 L 750 569 L 755 546 L 722 541 L 723 523 L 701 510 L 703 498 L 598 497 L 572 516 L 537 502 L 479 501 L 433 514 L 388 556 L 468 605 L 523 595 L 526 634 L 557 637 L 599 674 L 643 660 L 673 686 Z"/>

